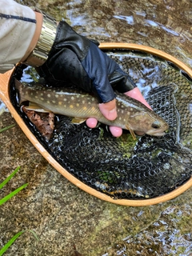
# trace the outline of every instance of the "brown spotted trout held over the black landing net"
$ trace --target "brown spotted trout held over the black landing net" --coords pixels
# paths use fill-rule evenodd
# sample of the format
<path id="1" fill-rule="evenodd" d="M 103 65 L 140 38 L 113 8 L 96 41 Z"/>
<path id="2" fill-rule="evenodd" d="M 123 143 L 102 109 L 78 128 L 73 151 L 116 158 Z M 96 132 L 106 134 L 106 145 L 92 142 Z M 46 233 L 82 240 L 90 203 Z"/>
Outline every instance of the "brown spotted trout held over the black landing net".
<path id="1" fill-rule="evenodd" d="M 72 120 L 74 122 L 81 123 L 87 118 L 97 118 L 99 122 L 108 126 L 130 130 L 133 138 L 135 138 L 134 130 L 153 136 L 162 136 L 169 128 L 168 124 L 154 111 L 134 98 L 118 92 L 115 92 L 118 117 L 114 121 L 109 121 L 98 108 L 98 98 L 92 94 L 67 88 L 49 88 L 40 84 L 24 86 L 18 80 L 15 81 L 15 86 L 18 90 L 19 104 L 26 101 L 34 102 L 47 112 L 74 117 Z"/>

